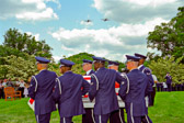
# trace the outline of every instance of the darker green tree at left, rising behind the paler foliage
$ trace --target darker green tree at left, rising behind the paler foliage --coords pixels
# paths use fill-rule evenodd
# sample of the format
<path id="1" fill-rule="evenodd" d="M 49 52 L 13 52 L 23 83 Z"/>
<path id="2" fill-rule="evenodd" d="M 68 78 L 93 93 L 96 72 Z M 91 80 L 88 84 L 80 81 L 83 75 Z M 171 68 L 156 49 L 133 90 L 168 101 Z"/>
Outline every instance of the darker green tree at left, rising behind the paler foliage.
<path id="1" fill-rule="evenodd" d="M 26 33 L 21 33 L 16 29 L 7 31 L 3 45 L 7 47 L 15 48 L 20 52 L 27 53 L 28 55 L 51 57 L 50 51 L 53 49 L 45 41 L 36 41 L 35 36 Z"/>

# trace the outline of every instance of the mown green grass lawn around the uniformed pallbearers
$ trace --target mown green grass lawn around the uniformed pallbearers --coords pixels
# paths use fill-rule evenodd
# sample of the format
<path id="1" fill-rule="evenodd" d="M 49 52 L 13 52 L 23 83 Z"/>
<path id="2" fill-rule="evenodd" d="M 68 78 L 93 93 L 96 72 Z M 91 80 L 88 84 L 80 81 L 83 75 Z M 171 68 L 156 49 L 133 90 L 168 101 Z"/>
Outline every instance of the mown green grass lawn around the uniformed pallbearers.
<path id="1" fill-rule="evenodd" d="M 36 123 L 27 100 L 0 99 L 0 123 Z M 154 107 L 149 108 L 149 116 L 153 123 L 184 123 L 184 91 L 158 92 Z M 81 123 L 81 115 L 74 116 L 73 122 Z M 51 113 L 50 123 L 59 123 L 57 111 Z"/>

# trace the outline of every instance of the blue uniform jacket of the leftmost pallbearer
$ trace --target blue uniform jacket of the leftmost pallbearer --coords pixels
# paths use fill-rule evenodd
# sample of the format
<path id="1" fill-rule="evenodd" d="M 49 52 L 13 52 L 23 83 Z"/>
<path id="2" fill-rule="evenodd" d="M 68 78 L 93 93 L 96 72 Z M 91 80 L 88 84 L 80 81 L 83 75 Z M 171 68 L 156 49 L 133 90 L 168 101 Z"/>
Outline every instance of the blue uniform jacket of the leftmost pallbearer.
<path id="1" fill-rule="evenodd" d="M 42 70 L 32 77 L 28 96 L 35 100 L 35 114 L 46 114 L 56 110 L 51 93 L 57 75 L 54 71 Z M 36 79 L 36 80 L 35 80 Z"/>

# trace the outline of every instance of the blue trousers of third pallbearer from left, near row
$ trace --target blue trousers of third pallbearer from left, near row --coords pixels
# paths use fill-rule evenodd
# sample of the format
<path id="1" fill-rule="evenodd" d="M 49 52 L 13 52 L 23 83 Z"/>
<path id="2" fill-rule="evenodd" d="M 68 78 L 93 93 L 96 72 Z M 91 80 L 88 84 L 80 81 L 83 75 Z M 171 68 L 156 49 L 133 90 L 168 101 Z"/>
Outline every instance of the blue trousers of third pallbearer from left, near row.
<path id="1" fill-rule="evenodd" d="M 108 114 L 94 115 L 95 123 L 107 123 L 108 118 L 110 118 L 110 113 Z"/>

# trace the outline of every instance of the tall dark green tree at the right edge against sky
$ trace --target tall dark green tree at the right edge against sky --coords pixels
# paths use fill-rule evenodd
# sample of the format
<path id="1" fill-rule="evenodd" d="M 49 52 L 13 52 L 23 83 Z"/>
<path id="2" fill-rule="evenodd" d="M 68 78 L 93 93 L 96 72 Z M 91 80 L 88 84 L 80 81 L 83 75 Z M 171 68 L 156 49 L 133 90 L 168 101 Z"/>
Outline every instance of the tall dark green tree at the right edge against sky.
<path id="1" fill-rule="evenodd" d="M 147 47 L 157 48 L 161 56 L 184 55 L 184 7 L 177 9 L 179 13 L 168 23 L 157 25 L 149 32 Z"/>

